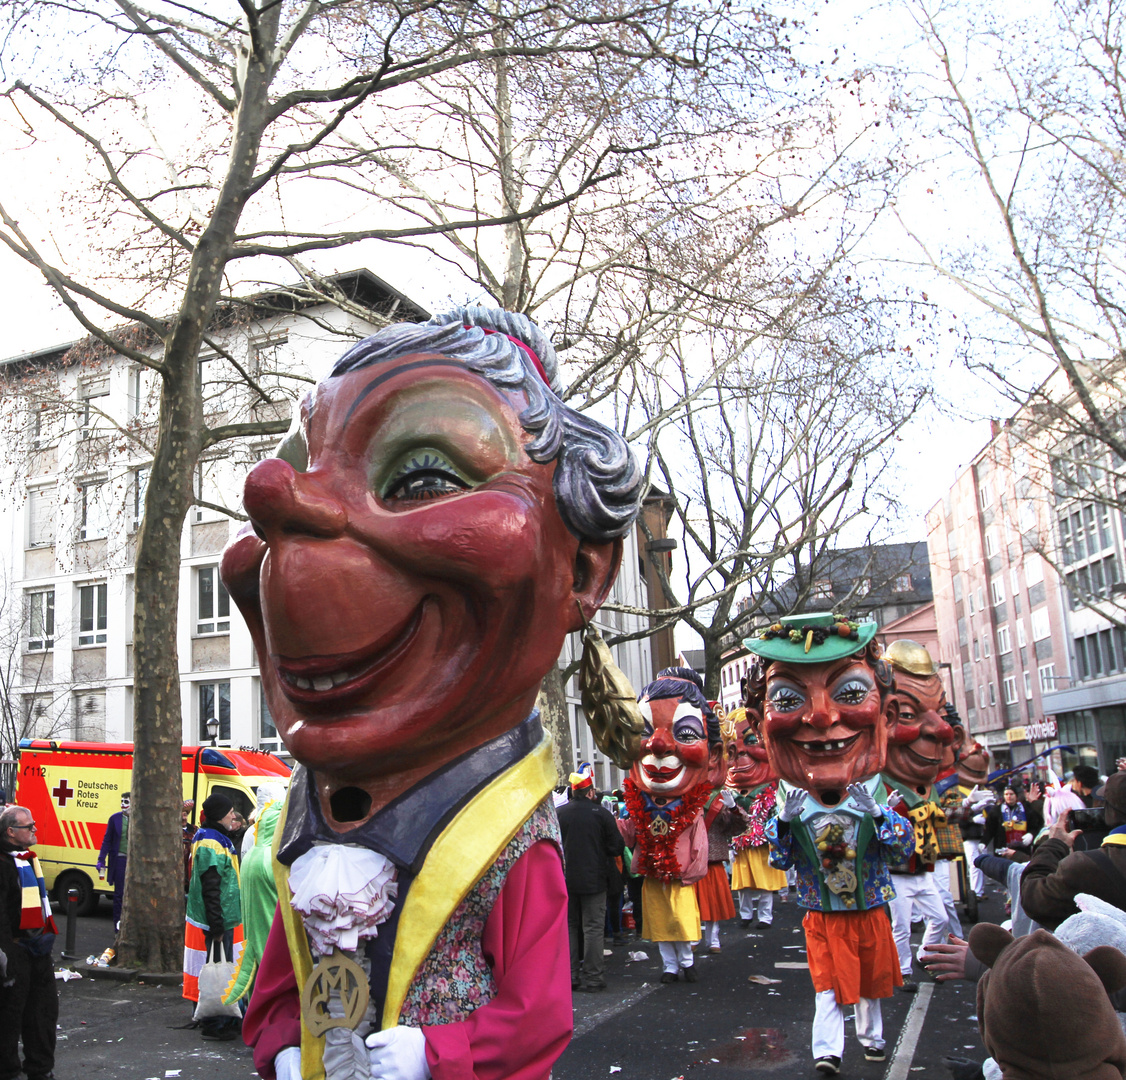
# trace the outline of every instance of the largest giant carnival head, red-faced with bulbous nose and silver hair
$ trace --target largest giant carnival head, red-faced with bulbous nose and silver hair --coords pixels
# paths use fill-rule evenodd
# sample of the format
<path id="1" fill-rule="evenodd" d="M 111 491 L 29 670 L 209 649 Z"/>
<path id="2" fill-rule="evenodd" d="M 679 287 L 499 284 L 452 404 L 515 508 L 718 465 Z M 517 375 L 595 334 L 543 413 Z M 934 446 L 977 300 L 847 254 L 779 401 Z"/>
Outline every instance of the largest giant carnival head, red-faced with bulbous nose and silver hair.
<path id="1" fill-rule="evenodd" d="M 354 784 L 385 802 L 517 726 L 606 598 L 642 475 L 558 385 L 522 315 L 392 325 L 247 477 L 223 580 L 324 798 Z"/>

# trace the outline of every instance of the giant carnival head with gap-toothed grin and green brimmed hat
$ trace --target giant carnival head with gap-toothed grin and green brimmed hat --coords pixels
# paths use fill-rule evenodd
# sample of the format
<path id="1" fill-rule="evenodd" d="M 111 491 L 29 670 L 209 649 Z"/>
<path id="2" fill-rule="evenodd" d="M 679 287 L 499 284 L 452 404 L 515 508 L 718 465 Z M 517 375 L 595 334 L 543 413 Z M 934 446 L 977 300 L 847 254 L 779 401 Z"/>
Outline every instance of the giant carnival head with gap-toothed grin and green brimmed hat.
<path id="1" fill-rule="evenodd" d="M 899 715 L 875 623 L 790 615 L 744 644 L 758 658 L 748 713 L 774 771 L 834 806 L 884 767 Z"/>

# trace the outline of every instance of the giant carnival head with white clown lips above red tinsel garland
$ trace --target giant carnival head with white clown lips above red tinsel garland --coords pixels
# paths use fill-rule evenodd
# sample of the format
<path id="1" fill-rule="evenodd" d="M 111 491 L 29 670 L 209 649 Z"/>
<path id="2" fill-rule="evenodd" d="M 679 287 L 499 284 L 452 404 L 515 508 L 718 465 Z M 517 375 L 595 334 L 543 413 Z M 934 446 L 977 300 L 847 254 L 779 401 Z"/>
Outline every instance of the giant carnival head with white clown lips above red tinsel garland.
<path id="1" fill-rule="evenodd" d="M 653 798 L 679 798 L 711 785 L 723 759 L 720 720 L 691 668 L 665 668 L 642 688 L 637 705 L 645 721 L 633 782 Z"/>

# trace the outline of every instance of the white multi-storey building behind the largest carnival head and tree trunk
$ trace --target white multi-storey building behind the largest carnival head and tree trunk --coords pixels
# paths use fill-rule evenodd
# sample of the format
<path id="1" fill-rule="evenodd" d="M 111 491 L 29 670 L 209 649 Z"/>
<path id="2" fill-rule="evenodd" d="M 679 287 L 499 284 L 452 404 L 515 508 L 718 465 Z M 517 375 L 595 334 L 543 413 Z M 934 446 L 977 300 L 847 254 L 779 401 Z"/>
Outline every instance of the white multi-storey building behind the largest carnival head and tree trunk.
<path id="1" fill-rule="evenodd" d="M 307 380 L 328 372 L 350 340 L 385 325 L 387 319 L 379 312 L 426 318 L 367 271 L 341 275 L 338 283 L 348 287 L 357 305 L 372 310 L 369 320 L 327 304 L 300 307 L 263 297 L 252 309 L 253 318 L 216 330 L 214 338 L 260 385 L 280 390 L 279 373 L 286 373 L 286 393 L 293 399 L 309 389 Z M 0 565 L 6 578 L 0 669 L 7 670 L 0 670 L 0 690 L 17 729 L 2 733 L 0 758 L 11 755 L 20 738 L 133 739 L 133 562 L 155 383 L 152 373 L 120 356 L 64 363 L 69 350 L 60 346 L 0 362 L 9 376 L 6 419 L 11 435 L 0 466 L 7 489 L 0 500 Z M 216 358 L 200 360 L 209 414 L 222 411 L 229 420 L 235 414 L 280 414 L 254 412 L 261 407 L 252 392 L 224 384 Z M 223 508 L 238 512 L 247 472 L 276 443 L 276 437 L 267 437 L 217 446 L 198 470 L 200 502 L 189 511 L 181 539 L 179 617 L 168 627 L 180 659 L 186 744 L 207 741 L 207 721 L 214 717 L 220 744 L 284 752 L 250 634 L 218 578 L 220 555 L 241 525 Z M 645 606 L 635 532 L 626 537 L 611 599 Z M 642 621 L 602 613 L 598 625 L 609 636 L 640 627 Z M 616 651 L 635 686 L 649 681 L 645 640 Z M 580 653 L 574 635 L 562 662 Z M 615 783 L 616 770 L 592 746 L 578 678 L 568 685 L 568 699 L 575 760 L 592 761 L 600 783 Z"/>

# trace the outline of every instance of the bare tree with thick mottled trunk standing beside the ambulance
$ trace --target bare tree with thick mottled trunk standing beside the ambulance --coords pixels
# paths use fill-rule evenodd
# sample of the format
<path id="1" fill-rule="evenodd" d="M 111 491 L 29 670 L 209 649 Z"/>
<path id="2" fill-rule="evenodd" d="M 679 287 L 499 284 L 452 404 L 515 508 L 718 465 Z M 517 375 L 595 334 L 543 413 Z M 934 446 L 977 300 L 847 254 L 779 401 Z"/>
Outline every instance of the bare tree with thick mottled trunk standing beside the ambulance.
<path id="1" fill-rule="evenodd" d="M 200 457 L 227 439 L 280 432 L 287 421 L 211 418 L 199 363 L 206 346 L 243 384 L 238 358 L 212 338 L 229 283 L 258 260 L 278 260 L 361 240 L 402 241 L 503 225 L 553 209 L 618 171 L 613 145 L 557 193 L 525 209 L 472 207 L 419 224 L 386 204 L 356 198 L 373 186 L 366 145 L 374 110 L 401 105 L 427 80 L 458 69 L 494 78 L 521 60 L 566 65 L 651 60 L 690 70 L 745 17 L 727 5 L 609 7 L 465 0 L 378 5 L 244 2 L 197 10 L 131 0 L 0 8 L 8 121 L 34 160 L 37 140 L 70 139 L 88 185 L 39 220 L 0 198 L 0 240 L 36 267 L 86 332 L 154 373 L 159 416 L 144 518 L 136 544 L 134 711 L 135 834 L 122 925 L 123 963 L 179 966 L 179 846 L 175 807 L 161 793 L 179 769 L 179 676 L 175 642 L 180 533 Z M 82 48 L 54 64 L 53 44 Z M 42 44 L 41 44 L 42 43 Z M 593 68 L 591 68 L 593 65 Z M 190 117 L 189 119 L 186 119 Z M 367 126 L 365 126 L 367 124 Z M 17 155 L 9 153 L 9 169 Z M 378 180 L 385 178 L 378 170 Z M 315 211 L 310 212 L 314 206 Z M 68 227 L 69 226 L 69 227 Z M 158 312 L 169 312 L 158 314 Z M 127 324 L 129 334 L 114 331 Z M 132 337 L 132 340 L 131 340 Z M 232 376 L 233 377 L 233 376 Z M 274 399 L 267 391 L 270 402 Z M 222 412 L 222 410 L 221 410 Z"/>

